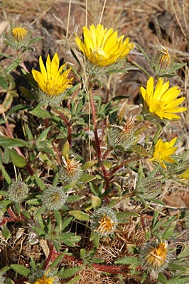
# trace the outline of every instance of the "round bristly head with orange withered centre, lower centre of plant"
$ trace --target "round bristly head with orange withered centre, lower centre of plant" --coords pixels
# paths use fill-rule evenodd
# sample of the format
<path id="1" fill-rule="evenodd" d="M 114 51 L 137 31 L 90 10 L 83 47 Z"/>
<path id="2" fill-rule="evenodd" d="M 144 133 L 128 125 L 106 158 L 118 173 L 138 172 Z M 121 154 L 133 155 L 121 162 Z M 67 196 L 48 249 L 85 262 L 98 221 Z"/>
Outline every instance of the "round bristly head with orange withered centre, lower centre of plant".
<path id="1" fill-rule="evenodd" d="M 114 233 L 117 226 L 117 217 L 111 208 L 99 208 L 92 217 L 92 230 L 102 236 Z"/>

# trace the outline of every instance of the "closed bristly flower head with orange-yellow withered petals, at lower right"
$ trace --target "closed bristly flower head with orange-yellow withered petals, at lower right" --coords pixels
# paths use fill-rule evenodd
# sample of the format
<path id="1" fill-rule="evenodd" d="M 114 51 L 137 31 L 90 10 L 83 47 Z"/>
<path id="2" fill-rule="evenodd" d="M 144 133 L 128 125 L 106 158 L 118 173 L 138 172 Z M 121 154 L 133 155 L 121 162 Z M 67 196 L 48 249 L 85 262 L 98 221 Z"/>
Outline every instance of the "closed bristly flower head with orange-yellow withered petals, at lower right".
<path id="1" fill-rule="evenodd" d="M 154 271 L 161 271 L 168 262 L 167 241 L 159 244 L 147 244 L 141 249 L 141 259 L 144 266 Z"/>

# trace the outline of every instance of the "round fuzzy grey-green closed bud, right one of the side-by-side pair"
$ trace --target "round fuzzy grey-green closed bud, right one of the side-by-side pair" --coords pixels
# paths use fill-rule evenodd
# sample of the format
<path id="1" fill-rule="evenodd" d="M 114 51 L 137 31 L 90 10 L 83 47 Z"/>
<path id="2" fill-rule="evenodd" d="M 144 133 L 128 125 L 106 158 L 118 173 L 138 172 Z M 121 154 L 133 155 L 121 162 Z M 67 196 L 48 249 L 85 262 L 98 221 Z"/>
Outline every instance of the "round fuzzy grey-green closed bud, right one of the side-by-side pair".
<path id="1" fill-rule="evenodd" d="M 43 190 L 42 202 L 48 210 L 58 210 L 63 207 L 66 195 L 62 187 L 50 186 Z"/>

